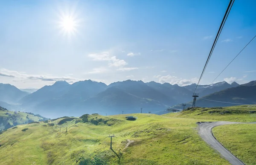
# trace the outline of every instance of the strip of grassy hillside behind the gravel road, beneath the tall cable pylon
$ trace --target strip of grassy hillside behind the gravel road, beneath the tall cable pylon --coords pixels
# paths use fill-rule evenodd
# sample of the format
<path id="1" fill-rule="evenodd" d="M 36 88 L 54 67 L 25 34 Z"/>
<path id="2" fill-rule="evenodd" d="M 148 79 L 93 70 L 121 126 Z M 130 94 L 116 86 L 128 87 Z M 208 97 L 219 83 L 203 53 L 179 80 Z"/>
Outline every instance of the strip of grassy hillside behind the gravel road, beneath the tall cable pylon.
<path id="1" fill-rule="evenodd" d="M 256 122 L 256 106 L 233 106 L 233 107 L 195 107 L 188 108 L 180 113 L 167 113 L 163 116 L 208 119 L 215 121 L 232 121 L 232 122 Z"/>

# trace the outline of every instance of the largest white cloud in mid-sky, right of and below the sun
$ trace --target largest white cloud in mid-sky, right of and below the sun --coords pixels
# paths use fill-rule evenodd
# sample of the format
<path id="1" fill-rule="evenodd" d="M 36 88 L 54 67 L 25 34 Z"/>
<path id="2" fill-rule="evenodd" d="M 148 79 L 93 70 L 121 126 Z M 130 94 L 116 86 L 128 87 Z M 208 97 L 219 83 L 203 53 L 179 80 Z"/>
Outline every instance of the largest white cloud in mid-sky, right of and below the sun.
<path id="1" fill-rule="evenodd" d="M 111 56 L 109 52 L 89 54 L 88 57 L 92 58 L 93 61 L 109 61 L 109 67 L 121 67 L 127 65 L 124 60 L 120 60 L 116 58 L 116 56 Z"/>

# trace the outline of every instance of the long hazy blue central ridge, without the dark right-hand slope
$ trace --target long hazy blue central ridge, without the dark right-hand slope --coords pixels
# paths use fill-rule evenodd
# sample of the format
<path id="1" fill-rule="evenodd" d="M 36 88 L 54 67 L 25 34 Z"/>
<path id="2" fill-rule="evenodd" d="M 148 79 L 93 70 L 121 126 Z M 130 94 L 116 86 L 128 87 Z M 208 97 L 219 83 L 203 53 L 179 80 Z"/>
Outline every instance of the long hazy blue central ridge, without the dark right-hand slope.
<path id="1" fill-rule="evenodd" d="M 211 85 L 199 85 L 199 96 L 215 93 L 239 84 L 219 82 Z M 53 85 L 44 86 L 19 100 L 20 107 L 26 111 L 57 115 L 80 115 L 84 113 L 118 114 L 162 111 L 176 104 L 192 100 L 196 84 L 180 87 L 177 84 L 157 83 L 154 81 L 118 81 L 106 85 L 91 80 L 68 84 L 57 81 Z M 180 107 L 181 108 L 181 107 Z M 72 115 L 72 116 L 73 116 Z"/>

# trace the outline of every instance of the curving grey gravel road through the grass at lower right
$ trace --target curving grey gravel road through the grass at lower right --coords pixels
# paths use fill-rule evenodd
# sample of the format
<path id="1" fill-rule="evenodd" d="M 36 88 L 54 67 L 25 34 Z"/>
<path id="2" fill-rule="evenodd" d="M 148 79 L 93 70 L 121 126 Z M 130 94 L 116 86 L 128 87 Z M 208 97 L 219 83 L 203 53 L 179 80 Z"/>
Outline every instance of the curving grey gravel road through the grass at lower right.
<path id="1" fill-rule="evenodd" d="M 226 148 L 224 148 L 223 145 L 221 145 L 220 142 L 218 142 L 215 137 L 212 134 L 212 128 L 224 125 L 224 124 L 256 124 L 256 122 L 251 123 L 241 123 L 241 122 L 198 122 L 199 126 L 199 135 L 201 138 L 207 142 L 208 145 L 210 145 L 213 149 L 217 150 L 219 153 L 221 153 L 222 156 L 224 156 L 225 159 L 227 159 L 232 165 L 244 165 L 244 163 L 239 160 L 236 156 L 234 156 L 230 151 L 228 151 Z"/>

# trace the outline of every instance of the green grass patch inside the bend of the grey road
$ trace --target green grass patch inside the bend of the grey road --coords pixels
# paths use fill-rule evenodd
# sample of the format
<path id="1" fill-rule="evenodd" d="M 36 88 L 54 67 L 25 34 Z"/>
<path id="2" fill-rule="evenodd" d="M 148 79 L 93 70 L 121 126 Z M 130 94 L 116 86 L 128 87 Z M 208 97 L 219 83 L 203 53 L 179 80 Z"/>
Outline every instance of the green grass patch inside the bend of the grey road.
<path id="1" fill-rule="evenodd" d="M 246 165 L 256 165 L 256 125 L 232 124 L 214 127 L 214 136 Z"/>

